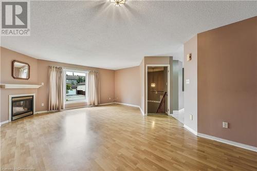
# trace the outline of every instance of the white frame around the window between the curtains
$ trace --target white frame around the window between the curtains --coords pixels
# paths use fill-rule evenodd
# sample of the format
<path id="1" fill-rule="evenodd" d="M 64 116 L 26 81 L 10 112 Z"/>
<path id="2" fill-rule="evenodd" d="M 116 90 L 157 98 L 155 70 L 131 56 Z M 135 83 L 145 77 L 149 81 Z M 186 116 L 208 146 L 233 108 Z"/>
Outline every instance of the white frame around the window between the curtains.
<path id="1" fill-rule="evenodd" d="M 88 70 L 81 70 L 81 69 L 70 69 L 70 68 L 63 68 L 63 72 L 64 72 L 64 100 L 65 100 L 65 104 L 75 104 L 75 103 L 87 103 L 88 102 Z M 79 72 L 79 73 L 85 73 L 85 79 L 86 79 L 86 83 L 85 83 L 85 100 L 78 100 L 78 101 L 66 101 L 66 84 L 67 84 L 67 79 L 66 79 L 66 72 Z"/>

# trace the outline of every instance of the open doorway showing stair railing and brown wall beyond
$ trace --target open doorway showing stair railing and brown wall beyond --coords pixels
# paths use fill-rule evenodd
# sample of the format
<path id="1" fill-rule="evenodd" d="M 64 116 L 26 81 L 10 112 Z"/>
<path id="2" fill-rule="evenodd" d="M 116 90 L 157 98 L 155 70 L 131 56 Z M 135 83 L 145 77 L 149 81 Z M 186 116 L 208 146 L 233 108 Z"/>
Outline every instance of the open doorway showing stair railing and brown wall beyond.
<path id="1" fill-rule="evenodd" d="M 146 113 L 169 115 L 170 74 L 169 65 L 146 65 Z"/>

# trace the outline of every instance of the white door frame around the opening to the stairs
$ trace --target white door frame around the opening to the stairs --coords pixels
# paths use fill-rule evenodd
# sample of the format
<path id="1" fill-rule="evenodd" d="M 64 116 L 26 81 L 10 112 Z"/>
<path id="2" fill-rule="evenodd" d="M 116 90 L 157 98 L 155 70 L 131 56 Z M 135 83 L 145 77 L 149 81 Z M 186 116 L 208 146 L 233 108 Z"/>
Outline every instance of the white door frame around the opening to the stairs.
<path id="1" fill-rule="evenodd" d="M 170 64 L 167 65 L 146 65 L 146 70 L 145 70 L 145 75 L 146 75 L 146 80 L 145 80 L 145 97 L 146 97 L 146 104 L 145 104 L 145 114 L 148 116 L 148 67 L 168 67 L 168 115 L 170 116 Z"/>

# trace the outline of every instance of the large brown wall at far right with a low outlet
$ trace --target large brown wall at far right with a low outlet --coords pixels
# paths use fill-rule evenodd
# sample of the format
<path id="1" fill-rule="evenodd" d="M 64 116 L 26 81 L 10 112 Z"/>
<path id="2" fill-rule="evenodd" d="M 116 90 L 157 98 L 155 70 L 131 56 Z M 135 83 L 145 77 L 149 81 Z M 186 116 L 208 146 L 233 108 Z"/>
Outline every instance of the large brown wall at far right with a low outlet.
<path id="1" fill-rule="evenodd" d="M 257 17 L 199 33 L 197 43 L 198 132 L 257 146 Z"/>

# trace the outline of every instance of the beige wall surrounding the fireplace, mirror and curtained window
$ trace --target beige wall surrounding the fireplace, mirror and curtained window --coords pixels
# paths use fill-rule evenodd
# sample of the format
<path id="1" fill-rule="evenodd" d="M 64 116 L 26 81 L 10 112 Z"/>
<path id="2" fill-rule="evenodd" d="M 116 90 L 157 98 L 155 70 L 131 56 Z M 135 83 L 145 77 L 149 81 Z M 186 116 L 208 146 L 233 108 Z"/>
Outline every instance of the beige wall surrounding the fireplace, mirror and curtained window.
<path id="1" fill-rule="evenodd" d="M 27 62 L 30 65 L 30 79 L 17 80 L 11 75 L 13 60 Z M 48 66 L 62 66 L 76 69 L 98 70 L 100 73 L 100 103 L 109 103 L 114 100 L 114 70 L 86 67 L 44 60 L 37 60 L 30 56 L 1 47 L 1 83 L 6 84 L 38 84 L 44 83 L 39 89 L 4 89 L 1 88 L 1 122 L 8 120 L 9 94 L 36 93 L 36 111 L 44 111 L 48 108 Z M 111 98 L 111 100 L 109 100 Z M 41 104 L 44 103 L 44 106 Z M 86 103 L 68 104 L 66 108 L 86 106 Z"/>

